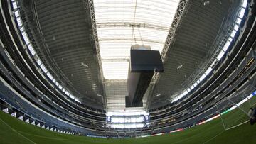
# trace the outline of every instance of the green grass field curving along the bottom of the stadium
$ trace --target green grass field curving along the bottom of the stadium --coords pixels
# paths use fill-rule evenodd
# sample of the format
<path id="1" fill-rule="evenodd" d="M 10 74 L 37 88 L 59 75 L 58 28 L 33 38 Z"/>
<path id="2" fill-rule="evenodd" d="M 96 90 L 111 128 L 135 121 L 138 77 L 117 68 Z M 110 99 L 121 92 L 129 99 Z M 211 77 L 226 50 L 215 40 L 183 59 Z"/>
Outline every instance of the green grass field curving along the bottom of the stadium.
<path id="1" fill-rule="evenodd" d="M 234 111 L 238 111 L 235 109 Z M 227 121 L 233 121 L 227 113 Z M 235 113 L 236 116 L 242 113 Z M 147 138 L 106 139 L 66 135 L 38 128 L 0 112 L 0 143 L 256 143 L 256 124 L 245 123 L 224 131 L 220 118 L 184 131 Z M 229 119 L 228 119 L 229 118 Z"/>

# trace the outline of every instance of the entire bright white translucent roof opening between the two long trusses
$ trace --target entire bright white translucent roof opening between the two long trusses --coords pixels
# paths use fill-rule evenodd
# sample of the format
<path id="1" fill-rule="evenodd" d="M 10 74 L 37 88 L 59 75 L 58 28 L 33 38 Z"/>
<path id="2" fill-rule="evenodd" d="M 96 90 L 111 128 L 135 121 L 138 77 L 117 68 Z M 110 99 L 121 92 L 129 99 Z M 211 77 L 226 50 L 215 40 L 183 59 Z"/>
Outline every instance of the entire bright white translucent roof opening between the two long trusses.
<path id="1" fill-rule="evenodd" d="M 105 79 L 127 79 L 132 45 L 164 48 L 179 0 L 94 0 Z"/>

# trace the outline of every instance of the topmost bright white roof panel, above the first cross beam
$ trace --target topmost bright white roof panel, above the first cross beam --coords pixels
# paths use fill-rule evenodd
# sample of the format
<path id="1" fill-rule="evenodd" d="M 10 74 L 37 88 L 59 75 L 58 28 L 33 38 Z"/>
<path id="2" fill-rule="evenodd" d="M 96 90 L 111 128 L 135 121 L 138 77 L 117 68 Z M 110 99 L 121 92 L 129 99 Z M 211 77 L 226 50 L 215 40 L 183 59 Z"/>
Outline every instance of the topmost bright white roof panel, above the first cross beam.
<path id="1" fill-rule="evenodd" d="M 170 26 L 179 0 L 95 0 L 97 23 L 132 22 Z M 135 18 L 135 6 L 137 7 Z"/>

